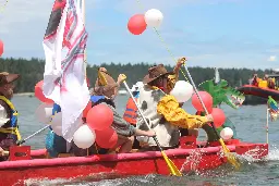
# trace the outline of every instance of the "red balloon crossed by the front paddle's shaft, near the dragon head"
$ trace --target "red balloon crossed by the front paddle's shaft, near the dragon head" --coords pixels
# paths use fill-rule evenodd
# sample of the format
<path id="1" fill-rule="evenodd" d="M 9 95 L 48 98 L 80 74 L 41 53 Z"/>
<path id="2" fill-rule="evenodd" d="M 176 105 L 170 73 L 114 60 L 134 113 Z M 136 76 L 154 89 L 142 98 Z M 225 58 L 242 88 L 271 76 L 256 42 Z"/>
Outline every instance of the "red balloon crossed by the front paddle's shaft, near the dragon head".
<path id="1" fill-rule="evenodd" d="M 201 96 L 205 108 L 207 111 L 210 113 L 213 111 L 213 106 L 214 106 L 214 99 L 210 94 L 207 91 L 198 91 L 198 95 Z M 192 104 L 197 111 L 205 111 L 203 108 L 203 104 L 201 103 L 199 99 L 197 98 L 196 94 L 193 95 L 192 97 Z"/>

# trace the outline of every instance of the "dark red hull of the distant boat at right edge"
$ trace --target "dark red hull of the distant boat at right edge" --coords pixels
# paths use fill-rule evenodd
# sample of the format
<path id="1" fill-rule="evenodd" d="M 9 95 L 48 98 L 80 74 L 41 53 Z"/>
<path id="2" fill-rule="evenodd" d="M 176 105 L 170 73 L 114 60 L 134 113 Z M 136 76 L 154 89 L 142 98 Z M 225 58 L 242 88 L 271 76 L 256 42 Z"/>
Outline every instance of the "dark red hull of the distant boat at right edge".
<path id="1" fill-rule="evenodd" d="M 262 98 L 268 98 L 271 96 L 275 100 L 279 100 L 279 90 L 270 89 L 270 88 L 260 88 L 253 85 L 244 85 L 238 88 L 239 91 L 244 95 L 253 95 Z"/>

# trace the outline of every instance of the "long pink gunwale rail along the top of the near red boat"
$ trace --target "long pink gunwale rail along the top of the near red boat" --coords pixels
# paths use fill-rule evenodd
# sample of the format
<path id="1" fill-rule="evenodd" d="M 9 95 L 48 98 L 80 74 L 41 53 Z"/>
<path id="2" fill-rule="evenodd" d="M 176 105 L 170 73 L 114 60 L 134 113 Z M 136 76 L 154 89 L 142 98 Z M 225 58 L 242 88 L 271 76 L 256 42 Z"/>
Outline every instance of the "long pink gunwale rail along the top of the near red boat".
<path id="1" fill-rule="evenodd" d="M 227 146 L 230 151 L 235 151 L 235 146 Z M 195 148 L 195 149 L 169 149 L 165 150 L 169 158 L 190 156 L 194 150 L 201 150 L 203 154 L 217 153 L 221 151 L 221 146 Z M 133 152 L 133 153 L 118 153 L 118 154 L 94 154 L 88 157 L 65 157 L 53 159 L 32 159 L 32 160 L 19 160 L 19 161 L 4 161 L 0 162 L 0 170 L 7 169 L 24 169 L 36 166 L 53 166 L 53 165 L 68 165 L 68 164 L 85 164 L 85 163 L 102 163 L 102 162 L 120 162 L 120 161 L 138 161 L 144 159 L 157 159 L 162 158 L 160 151 L 146 151 L 146 152 Z"/>

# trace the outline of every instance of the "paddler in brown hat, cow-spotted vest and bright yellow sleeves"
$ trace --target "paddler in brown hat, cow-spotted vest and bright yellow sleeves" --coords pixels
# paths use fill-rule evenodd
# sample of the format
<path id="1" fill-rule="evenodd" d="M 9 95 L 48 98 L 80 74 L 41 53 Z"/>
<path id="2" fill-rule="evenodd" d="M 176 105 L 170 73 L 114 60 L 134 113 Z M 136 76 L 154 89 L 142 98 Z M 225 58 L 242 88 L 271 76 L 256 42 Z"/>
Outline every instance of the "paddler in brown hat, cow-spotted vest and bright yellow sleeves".
<path id="1" fill-rule="evenodd" d="M 178 70 L 183 60 L 179 60 Z M 170 79 L 174 76 L 174 80 Z M 140 89 L 140 107 L 148 121 L 149 127 L 156 132 L 157 139 L 163 149 L 179 146 L 180 131 L 183 128 L 199 128 L 204 124 L 211 122 L 211 115 L 199 116 L 182 112 L 178 101 L 169 96 L 171 88 L 175 84 L 175 71 L 168 72 L 162 64 L 155 65 L 148 70 L 144 77 L 144 87 Z M 172 101 L 168 102 L 172 98 Z M 173 100 L 174 99 L 174 100 Z M 167 104 L 166 104 L 167 103 Z M 143 120 L 138 119 L 137 127 L 147 129 Z M 156 150 L 156 142 L 150 137 L 138 137 L 138 141 L 144 150 Z"/>

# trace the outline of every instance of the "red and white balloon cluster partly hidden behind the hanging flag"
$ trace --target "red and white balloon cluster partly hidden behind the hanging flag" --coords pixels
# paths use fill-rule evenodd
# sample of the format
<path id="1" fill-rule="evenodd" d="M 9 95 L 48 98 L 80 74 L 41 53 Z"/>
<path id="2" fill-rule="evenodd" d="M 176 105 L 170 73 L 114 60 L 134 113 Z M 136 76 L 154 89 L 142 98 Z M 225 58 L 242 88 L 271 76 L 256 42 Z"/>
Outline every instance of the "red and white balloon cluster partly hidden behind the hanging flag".
<path id="1" fill-rule="evenodd" d="M 35 97 L 41 101 L 35 114 L 39 122 L 50 123 L 52 131 L 58 136 L 62 136 L 62 112 L 52 115 L 52 109 L 56 106 L 51 99 L 45 97 L 43 85 L 44 82 L 40 80 L 35 86 Z M 83 123 L 82 117 L 86 119 L 86 123 Z M 101 148 L 116 146 L 118 135 L 111 128 L 112 122 L 113 113 L 109 107 L 105 104 L 92 107 L 89 101 L 82 116 L 74 124 L 80 126 L 73 136 L 74 144 L 82 149 L 89 148 L 95 141 Z"/>

